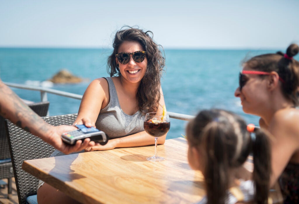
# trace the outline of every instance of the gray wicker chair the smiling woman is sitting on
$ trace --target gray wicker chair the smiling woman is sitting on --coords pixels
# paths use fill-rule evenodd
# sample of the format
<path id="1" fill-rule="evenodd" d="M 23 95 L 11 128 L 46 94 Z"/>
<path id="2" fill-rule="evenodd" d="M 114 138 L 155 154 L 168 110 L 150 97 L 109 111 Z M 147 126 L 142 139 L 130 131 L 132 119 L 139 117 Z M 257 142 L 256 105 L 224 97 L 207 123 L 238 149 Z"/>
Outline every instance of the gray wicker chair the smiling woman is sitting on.
<path id="1" fill-rule="evenodd" d="M 54 126 L 71 125 L 77 114 L 43 117 Z M 36 194 L 39 179 L 21 169 L 24 160 L 49 157 L 54 147 L 25 130 L 5 120 L 8 143 L 10 146 L 11 161 L 16 180 L 16 188 L 20 204 L 26 203 L 26 197 Z"/>

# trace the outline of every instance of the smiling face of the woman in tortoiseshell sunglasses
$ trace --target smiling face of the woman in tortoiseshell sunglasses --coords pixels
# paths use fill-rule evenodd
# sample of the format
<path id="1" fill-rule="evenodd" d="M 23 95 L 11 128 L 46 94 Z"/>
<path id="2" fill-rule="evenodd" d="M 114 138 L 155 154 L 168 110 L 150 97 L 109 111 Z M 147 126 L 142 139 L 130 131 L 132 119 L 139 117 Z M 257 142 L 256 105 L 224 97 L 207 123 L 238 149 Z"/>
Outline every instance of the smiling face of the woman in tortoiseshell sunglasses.
<path id="1" fill-rule="evenodd" d="M 135 41 L 125 41 L 118 48 L 118 53 L 132 53 L 136 51 L 145 50 L 140 43 Z M 129 83 L 138 83 L 139 85 L 147 70 L 147 57 L 145 57 L 142 62 L 135 62 L 132 55 L 130 55 L 130 61 L 128 64 L 121 64 L 117 58 L 115 58 L 115 60 L 116 64 L 119 65 L 121 79 Z"/>

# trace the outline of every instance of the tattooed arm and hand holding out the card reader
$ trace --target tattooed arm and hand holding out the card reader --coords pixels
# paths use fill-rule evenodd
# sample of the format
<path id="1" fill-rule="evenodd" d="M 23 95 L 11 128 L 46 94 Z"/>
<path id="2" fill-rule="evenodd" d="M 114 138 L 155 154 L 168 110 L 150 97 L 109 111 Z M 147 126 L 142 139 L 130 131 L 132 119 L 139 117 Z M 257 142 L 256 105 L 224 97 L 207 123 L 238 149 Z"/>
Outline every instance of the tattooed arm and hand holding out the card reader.
<path id="1" fill-rule="evenodd" d="M 62 142 L 63 132 L 76 129 L 73 126 L 51 126 L 42 120 L 39 115 L 31 110 L 9 87 L 0 79 L 0 115 L 21 127 L 22 129 L 40 137 L 56 149 L 65 154 L 78 152 L 89 146 L 94 146 L 87 138 L 82 143 L 78 140 L 75 145 L 67 145 Z"/>

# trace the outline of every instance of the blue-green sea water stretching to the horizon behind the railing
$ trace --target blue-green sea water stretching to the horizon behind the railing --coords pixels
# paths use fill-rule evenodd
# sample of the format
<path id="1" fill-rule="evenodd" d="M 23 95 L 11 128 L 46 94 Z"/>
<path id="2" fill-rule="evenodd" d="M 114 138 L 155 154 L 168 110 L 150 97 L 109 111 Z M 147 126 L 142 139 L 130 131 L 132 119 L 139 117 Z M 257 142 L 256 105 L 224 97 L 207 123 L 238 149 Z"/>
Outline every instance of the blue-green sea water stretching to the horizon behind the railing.
<path id="1" fill-rule="evenodd" d="M 106 59 L 110 49 L 0 48 L 0 77 L 4 82 L 39 85 L 60 69 L 89 81 L 54 84 L 53 89 L 83 95 L 90 81 L 109 76 Z M 258 117 L 243 113 L 234 97 L 244 59 L 277 50 L 172 50 L 165 49 L 166 72 L 161 79 L 168 111 L 196 115 L 200 110 L 221 108 L 258 125 Z M 23 99 L 39 102 L 39 91 L 13 90 Z M 48 93 L 49 114 L 77 113 L 80 100 Z M 186 121 L 171 119 L 167 139 L 185 134 Z"/>

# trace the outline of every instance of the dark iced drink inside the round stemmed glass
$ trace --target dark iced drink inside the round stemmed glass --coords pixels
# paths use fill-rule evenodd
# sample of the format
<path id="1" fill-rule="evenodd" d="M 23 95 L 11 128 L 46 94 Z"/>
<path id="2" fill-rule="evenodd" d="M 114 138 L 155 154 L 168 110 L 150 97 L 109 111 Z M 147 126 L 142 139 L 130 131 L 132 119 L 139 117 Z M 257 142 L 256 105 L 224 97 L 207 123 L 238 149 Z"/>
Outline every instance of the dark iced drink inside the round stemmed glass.
<path id="1" fill-rule="evenodd" d="M 160 122 L 160 121 L 159 121 Z M 151 120 L 144 122 L 144 130 L 149 135 L 154 137 L 161 137 L 165 135 L 170 129 L 170 122 L 152 123 Z"/>

